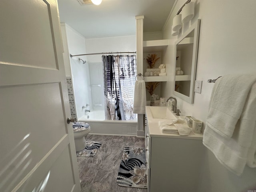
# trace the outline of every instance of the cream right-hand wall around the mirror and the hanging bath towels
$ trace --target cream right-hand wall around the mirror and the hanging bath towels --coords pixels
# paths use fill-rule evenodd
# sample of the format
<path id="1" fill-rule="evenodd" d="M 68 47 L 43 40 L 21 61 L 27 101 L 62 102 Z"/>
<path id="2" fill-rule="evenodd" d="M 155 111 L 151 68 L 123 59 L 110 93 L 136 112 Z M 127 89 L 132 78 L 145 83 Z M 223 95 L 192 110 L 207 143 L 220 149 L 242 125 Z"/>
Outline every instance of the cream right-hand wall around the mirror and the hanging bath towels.
<path id="1" fill-rule="evenodd" d="M 195 1 L 195 0 L 194 0 Z M 171 39 L 171 46 L 163 58 L 167 74 L 173 74 L 174 41 L 171 36 L 172 19 L 186 0 L 178 0 L 163 29 L 163 38 Z M 256 1 L 255 0 L 196 0 L 195 16 L 191 23 L 201 19 L 196 80 L 202 80 L 202 93 L 195 93 L 194 104 L 178 100 L 182 115 L 191 115 L 206 121 L 214 79 L 225 74 L 256 74 Z M 186 30 L 188 24 L 183 26 Z M 173 77 L 162 84 L 165 97 L 172 96 Z M 205 148 L 198 192 L 247 192 L 256 190 L 256 168 L 246 166 L 236 176 L 222 166 L 210 150 Z"/>

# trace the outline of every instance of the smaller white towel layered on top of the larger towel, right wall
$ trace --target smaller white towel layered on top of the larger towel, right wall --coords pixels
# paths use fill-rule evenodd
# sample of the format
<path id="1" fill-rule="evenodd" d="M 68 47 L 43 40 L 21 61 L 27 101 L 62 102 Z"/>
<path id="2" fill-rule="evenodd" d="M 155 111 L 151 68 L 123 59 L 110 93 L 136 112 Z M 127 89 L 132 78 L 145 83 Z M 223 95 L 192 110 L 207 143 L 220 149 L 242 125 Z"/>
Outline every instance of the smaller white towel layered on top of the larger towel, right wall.
<path id="1" fill-rule="evenodd" d="M 216 80 L 206 123 L 212 130 L 231 137 L 256 75 L 226 75 Z"/>

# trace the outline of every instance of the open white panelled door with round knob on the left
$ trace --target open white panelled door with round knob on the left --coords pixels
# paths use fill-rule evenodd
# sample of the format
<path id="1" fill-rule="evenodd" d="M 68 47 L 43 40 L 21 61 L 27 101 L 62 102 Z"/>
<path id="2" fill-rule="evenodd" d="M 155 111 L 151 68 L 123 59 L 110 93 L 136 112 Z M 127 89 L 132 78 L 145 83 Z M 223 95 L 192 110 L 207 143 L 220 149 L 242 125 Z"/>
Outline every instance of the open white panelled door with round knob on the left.
<path id="1" fill-rule="evenodd" d="M 56 0 L 0 0 L 0 191 L 78 192 Z"/>

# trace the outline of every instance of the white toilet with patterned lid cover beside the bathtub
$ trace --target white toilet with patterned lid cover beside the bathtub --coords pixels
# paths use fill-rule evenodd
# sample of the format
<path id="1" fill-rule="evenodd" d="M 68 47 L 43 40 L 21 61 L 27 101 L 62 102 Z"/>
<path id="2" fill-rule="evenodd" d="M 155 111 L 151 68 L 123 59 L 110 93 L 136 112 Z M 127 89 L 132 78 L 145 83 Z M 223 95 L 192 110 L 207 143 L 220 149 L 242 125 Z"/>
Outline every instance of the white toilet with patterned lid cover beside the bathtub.
<path id="1" fill-rule="evenodd" d="M 90 125 L 84 122 L 73 123 L 76 152 L 86 148 L 85 136 L 90 133 Z"/>

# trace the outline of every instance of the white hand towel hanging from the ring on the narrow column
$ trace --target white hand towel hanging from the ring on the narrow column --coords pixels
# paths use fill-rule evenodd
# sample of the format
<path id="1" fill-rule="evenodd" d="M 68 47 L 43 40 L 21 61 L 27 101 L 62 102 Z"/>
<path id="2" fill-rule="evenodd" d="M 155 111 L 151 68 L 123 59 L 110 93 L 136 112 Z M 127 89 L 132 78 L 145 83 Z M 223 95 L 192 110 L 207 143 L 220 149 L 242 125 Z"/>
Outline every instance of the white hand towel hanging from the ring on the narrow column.
<path id="1" fill-rule="evenodd" d="M 138 80 L 134 86 L 133 113 L 145 114 L 146 86 L 144 80 Z"/>

